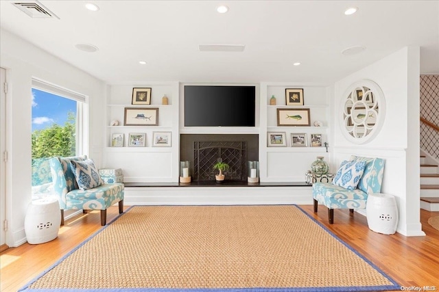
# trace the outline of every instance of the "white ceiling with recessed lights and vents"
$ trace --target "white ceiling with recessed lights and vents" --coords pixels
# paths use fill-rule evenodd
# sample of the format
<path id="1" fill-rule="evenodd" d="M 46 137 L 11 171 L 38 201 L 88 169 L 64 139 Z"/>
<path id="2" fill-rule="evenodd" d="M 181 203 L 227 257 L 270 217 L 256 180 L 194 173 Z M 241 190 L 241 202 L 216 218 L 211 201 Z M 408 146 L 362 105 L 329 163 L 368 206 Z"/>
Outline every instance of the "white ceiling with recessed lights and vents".
<path id="1" fill-rule="evenodd" d="M 329 84 L 406 46 L 420 47 L 421 73 L 439 74 L 439 1 L 91 1 L 97 12 L 86 1 L 40 1 L 60 19 L 31 18 L 12 2 L 0 1 L 2 29 L 108 83 Z M 217 13 L 220 4 L 229 12 Z M 358 12 L 344 15 L 351 6 Z M 342 55 L 356 45 L 366 50 Z"/>

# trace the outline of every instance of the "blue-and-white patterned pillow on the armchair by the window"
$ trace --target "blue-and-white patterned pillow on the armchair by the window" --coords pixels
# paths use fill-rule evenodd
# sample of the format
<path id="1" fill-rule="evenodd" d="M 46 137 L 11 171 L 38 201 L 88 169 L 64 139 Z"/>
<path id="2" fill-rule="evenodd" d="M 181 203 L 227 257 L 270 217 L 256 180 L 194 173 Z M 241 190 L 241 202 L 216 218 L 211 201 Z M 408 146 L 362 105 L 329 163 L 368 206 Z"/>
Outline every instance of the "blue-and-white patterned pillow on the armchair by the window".
<path id="1" fill-rule="evenodd" d="M 70 161 L 71 170 L 75 174 L 78 187 L 82 190 L 93 189 L 93 187 L 99 187 L 104 185 L 101 176 L 93 162 L 93 159 L 87 159 L 84 161 Z"/>

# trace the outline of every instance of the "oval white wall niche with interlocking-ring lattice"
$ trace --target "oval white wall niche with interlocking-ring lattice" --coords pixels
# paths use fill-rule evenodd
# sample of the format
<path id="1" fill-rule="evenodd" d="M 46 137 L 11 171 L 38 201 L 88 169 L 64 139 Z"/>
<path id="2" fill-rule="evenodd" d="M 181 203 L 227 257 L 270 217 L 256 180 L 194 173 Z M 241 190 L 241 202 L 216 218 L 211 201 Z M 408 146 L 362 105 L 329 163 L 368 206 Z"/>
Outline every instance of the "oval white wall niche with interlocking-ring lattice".
<path id="1" fill-rule="evenodd" d="M 349 86 L 342 98 L 339 118 L 347 140 L 355 144 L 373 140 L 385 118 L 385 98 L 379 85 L 361 80 Z"/>

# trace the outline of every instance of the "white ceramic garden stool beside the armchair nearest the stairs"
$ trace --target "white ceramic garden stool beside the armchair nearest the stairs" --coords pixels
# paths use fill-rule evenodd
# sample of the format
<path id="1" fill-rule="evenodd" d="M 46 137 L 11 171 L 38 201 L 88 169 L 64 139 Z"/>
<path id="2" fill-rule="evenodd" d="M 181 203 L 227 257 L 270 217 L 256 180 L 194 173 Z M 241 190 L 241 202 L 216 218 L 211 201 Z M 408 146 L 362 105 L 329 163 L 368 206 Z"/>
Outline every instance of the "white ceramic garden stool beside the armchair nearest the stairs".
<path id="1" fill-rule="evenodd" d="M 369 229 L 376 233 L 391 235 L 398 226 L 398 207 L 390 194 L 370 194 L 366 202 Z"/>

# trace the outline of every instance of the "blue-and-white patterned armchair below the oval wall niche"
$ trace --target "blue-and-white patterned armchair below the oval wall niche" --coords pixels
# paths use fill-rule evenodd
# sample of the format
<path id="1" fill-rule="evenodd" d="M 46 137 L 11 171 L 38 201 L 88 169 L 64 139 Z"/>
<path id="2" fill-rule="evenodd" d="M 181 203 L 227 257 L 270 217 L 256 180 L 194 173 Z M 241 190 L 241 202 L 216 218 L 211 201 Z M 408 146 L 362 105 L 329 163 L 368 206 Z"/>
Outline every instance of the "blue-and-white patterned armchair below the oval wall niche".
<path id="1" fill-rule="evenodd" d="M 351 161 L 364 161 L 366 166 L 355 189 L 346 189 L 333 183 L 314 183 L 314 213 L 318 204 L 328 207 L 329 224 L 334 222 L 334 209 L 366 209 L 369 194 L 379 193 L 383 182 L 384 159 L 351 156 Z"/>

